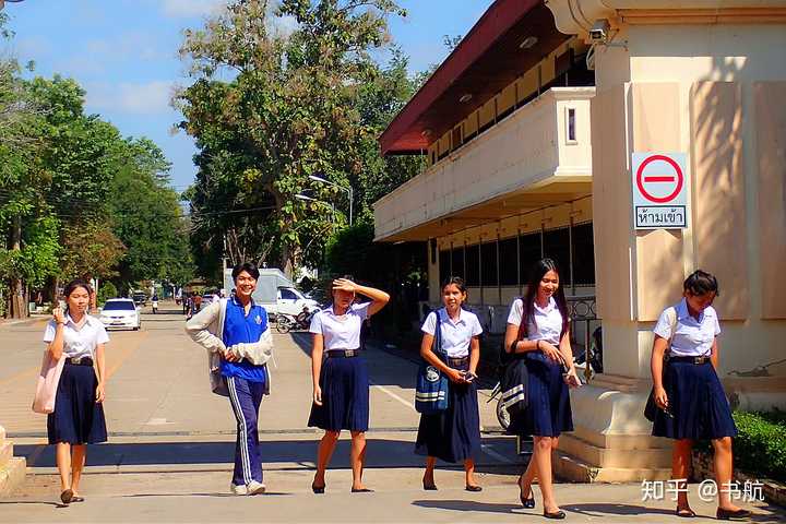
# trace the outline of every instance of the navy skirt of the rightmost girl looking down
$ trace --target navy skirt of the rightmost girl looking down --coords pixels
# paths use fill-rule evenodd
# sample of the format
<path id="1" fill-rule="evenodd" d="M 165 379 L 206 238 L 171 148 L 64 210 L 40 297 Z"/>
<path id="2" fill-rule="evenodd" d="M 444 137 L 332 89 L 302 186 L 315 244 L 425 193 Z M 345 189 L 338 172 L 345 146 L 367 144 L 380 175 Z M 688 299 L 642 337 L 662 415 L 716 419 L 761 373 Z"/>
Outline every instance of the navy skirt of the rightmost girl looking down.
<path id="1" fill-rule="evenodd" d="M 726 393 L 712 364 L 669 361 L 664 389 L 674 418 L 657 409 L 653 436 L 693 440 L 737 436 Z"/>

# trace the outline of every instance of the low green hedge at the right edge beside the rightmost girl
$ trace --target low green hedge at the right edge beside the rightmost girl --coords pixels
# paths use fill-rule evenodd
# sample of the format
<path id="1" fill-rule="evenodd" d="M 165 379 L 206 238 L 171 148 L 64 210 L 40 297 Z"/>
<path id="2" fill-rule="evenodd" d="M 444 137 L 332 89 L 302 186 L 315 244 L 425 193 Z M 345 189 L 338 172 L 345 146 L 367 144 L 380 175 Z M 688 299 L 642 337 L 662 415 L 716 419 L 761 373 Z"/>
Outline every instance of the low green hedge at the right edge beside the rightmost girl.
<path id="1" fill-rule="evenodd" d="M 735 412 L 735 467 L 786 483 L 786 413 Z"/>

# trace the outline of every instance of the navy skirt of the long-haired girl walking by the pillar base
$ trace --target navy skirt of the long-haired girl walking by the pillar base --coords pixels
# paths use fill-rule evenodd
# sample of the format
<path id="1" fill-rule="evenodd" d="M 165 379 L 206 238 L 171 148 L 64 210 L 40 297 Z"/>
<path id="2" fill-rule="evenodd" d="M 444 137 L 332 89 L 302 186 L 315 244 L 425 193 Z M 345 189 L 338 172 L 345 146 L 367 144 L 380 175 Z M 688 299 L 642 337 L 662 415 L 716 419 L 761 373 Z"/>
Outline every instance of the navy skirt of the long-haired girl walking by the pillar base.
<path id="1" fill-rule="evenodd" d="M 553 364 L 540 352 L 525 354 L 529 372 L 528 405 L 511 418 L 508 432 L 520 437 L 559 437 L 573 431 L 570 391 L 562 379 L 562 366 Z"/>

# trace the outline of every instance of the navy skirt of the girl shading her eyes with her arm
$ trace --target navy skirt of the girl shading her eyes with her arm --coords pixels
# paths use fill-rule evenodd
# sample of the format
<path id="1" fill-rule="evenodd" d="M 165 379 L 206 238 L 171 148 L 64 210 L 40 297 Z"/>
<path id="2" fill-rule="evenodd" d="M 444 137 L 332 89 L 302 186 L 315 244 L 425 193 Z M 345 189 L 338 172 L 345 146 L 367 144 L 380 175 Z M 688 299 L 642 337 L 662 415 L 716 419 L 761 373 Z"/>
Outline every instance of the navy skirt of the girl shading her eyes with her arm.
<path id="1" fill-rule="evenodd" d="M 368 369 L 364 357 L 325 358 L 320 370 L 322 405 L 311 405 L 308 425 L 327 431 L 368 431 Z"/>

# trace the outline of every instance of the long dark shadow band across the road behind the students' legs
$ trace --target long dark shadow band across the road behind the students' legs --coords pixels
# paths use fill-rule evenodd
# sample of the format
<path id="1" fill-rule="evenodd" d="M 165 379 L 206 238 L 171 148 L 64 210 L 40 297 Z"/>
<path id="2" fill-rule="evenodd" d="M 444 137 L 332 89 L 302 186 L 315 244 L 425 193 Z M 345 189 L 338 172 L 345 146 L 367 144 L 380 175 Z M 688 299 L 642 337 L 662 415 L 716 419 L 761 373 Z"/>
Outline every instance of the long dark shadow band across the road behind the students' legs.
<path id="1" fill-rule="evenodd" d="M 422 457 L 415 454 L 412 441 L 367 438 L 366 467 L 421 467 Z M 502 437 L 484 439 L 484 445 L 493 448 L 504 456 L 514 457 L 514 442 Z M 24 456 L 29 467 L 55 467 L 55 446 L 17 444 L 17 456 Z M 331 467 L 349 467 L 350 441 L 338 441 Z M 260 443 L 260 455 L 265 465 L 298 464 L 313 467 L 317 440 L 275 440 Z M 483 454 L 478 471 L 484 466 L 498 466 L 498 461 Z M 515 460 L 515 458 L 513 458 Z M 87 466 L 151 466 L 187 464 L 230 464 L 235 462 L 235 442 L 134 442 L 90 445 Z M 452 465 L 451 465 L 452 466 Z M 458 467 L 458 465 L 456 465 Z"/>

